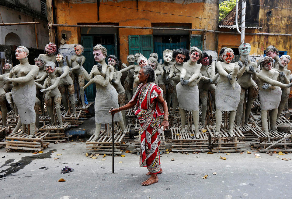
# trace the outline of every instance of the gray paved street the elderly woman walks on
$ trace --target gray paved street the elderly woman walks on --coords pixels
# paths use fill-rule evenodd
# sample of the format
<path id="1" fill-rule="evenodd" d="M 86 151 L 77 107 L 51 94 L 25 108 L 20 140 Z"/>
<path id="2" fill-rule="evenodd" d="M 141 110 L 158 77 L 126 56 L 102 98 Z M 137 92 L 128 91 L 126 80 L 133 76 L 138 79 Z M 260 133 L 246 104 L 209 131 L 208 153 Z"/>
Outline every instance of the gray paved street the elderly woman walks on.
<path id="1" fill-rule="evenodd" d="M 245 150 L 252 151 L 248 145 Z M 147 169 L 139 167 L 139 156 L 124 153 L 125 157 L 115 157 L 112 174 L 112 156 L 92 159 L 85 156 L 85 151 L 84 142 L 71 141 L 50 144 L 43 153 L 35 155 L 0 149 L 0 175 L 7 173 L 0 178 L 0 198 L 231 199 L 290 198 L 292 194 L 292 160 L 288 159 L 292 159 L 292 154 L 279 156 L 288 161 L 263 153 L 262 158 L 255 158 L 254 152 L 162 154 L 159 182 L 145 187 L 141 182 L 147 179 Z M 21 162 L 24 165 L 13 166 Z M 61 174 L 64 166 L 74 171 Z M 207 179 L 203 179 L 206 174 Z M 57 182 L 60 178 L 66 182 Z"/>

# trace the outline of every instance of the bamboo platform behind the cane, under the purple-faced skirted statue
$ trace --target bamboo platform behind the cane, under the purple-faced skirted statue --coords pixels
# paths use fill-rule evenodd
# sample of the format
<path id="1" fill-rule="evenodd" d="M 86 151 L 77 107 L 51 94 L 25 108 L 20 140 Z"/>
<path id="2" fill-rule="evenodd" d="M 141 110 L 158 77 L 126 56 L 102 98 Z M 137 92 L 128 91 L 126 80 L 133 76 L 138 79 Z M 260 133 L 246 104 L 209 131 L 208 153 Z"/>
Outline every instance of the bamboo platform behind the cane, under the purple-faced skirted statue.
<path id="1" fill-rule="evenodd" d="M 123 144 L 124 134 L 121 130 L 116 130 L 113 137 L 108 136 L 106 130 L 100 132 L 97 140 L 92 141 L 93 137 L 94 135 L 92 135 L 85 143 L 86 152 L 88 153 L 112 154 L 113 137 L 115 154 L 121 154 L 121 150 L 127 147 L 127 145 Z"/>

